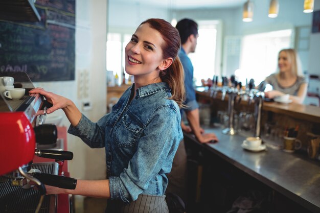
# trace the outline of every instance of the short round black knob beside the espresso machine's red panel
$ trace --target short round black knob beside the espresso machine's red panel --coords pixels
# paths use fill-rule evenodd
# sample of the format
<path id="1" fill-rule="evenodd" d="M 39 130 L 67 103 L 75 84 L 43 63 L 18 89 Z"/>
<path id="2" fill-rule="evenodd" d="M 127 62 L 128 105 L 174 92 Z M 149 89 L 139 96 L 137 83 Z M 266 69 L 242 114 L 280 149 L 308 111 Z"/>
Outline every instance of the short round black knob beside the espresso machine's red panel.
<path id="1" fill-rule="evenodd" d="M 56 125 L 43 124 L 34 128 L 36 143 L 39 145 L 54 144 L 57 141 L 58 131 Z"/>

